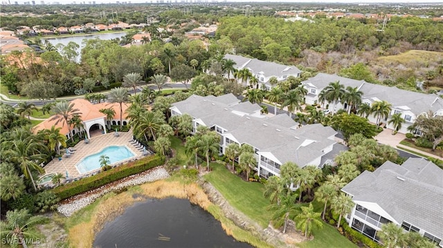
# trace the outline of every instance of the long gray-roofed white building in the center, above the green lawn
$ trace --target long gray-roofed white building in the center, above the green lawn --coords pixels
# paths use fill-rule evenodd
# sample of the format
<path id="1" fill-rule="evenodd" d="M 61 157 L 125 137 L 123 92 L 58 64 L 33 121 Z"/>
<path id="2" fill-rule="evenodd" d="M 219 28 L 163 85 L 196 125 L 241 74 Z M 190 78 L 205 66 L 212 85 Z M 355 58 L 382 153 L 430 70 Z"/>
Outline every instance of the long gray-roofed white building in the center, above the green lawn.
<path id="1" fill-rule="evenodd" d="M 333 151 L 336 131 L 329 126 L 313 124 L 298 128 L 288 115 L 267 117 L 260 114 L 260 106 L 239 102 L 234 95 L 201 97 L 172 104 L 172 116 L 192 116 L 193 130 L 203 125 L 219 133 L 220 153 L 228 144 L 253 146 L 257 159 L 257 172 L 264 178 L 280 175 L 284 162 L 296 162 L 300 167 L 323 166 L 322 157 Z M 337 150 L 336 150 L 337 151 Z M 329 158 L 328 157 L 328 158 Z"/>

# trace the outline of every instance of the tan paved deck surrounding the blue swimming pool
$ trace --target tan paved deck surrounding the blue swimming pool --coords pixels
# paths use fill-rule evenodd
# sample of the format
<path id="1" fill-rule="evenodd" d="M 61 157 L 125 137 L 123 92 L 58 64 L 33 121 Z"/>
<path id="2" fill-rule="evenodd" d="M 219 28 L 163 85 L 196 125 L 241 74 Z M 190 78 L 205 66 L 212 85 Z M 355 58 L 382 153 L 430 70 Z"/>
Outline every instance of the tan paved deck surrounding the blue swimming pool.
<path id="1" fill-rule="evenodd" d="M 44 166 L 45 173 L 62 173 L 66 177 L 67 171 L 70 179 L 89 176 L 91 175 L 91 172 L 80 174 L 80 172 L 75 167 L 75 164 L 78 164 L 78 162 L 80 162 L 80 160 L 82 160 L 87 155 L 98 153 L 107 146 L 126 145 L 129 150 L 136 154 L 135 158 L 140 158 L 143 156 L 142 151 L 136 149 L 134 144 L 129 142 L 130 140 L 132 140 L 132 131 L 118 132 L 118 134 L 120 135 L 119 137 L 116 137 L 114 135 L 114 132 L 96 135 L 89 139 L 89 144 L 85 144 L 84 141 L 78 142 L 78 144 L 73 147 L 73 149 L 75 149 L 74 154 L 70 155 L 69 158 L 66 157 L 66 155 L 63 155 L 62 160 L 58 160 L 57 158 L 55 158 L 53 161 Z M 134 158 L 131 158 L 129 160 L 133 159 Z"/>

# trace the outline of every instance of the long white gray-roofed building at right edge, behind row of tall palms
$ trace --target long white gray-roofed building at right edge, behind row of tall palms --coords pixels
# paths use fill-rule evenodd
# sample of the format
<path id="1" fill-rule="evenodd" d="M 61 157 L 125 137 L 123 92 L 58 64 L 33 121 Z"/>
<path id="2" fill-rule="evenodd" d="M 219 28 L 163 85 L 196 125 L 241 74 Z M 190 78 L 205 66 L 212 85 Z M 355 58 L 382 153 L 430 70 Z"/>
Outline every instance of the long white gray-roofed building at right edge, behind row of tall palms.
<path id="1" fill-rule="evenodd" d="M 443 99 L 437 95 L 417 93 L 379 84 L 370 84 L 364 80 L 355 80 L 326 73 L 318 73 L 315 77 L 311 77 L 302 82 L 302 85 L 307 88 L 308 91 L 305 102 L 307 104 L 319 103 L 318 95 L 321 90 L 328 86 L 329 83 L 337 81 L 343 84 L 345 88 L 351 86 L 363 92 L 362 102 L 365 104 L 372 105 L 374 102 L 383 100 L 392 104 L 389 117 L 386 120 L 382 120 L 382 122 L 387 124 L 392 115 L 400 113 L 406 122 L 401 125 L 399 133 L 408 133 L 408 126 L 412 125 L 419 115 L 427 113 L 428 111 L 433 111 L 435 115 L 443 115 Z M 327 106 L 331 110 L 333 108 L 333 104 L 329 104 L 328 102 L 325 102 L 323 106 Z M 347 104 L 339 102 L 336 104 L 336 109 L 332 111 L 336 112 L 341 108 L 346 109 Z M 369 121 L 377 122 L 377 118 L 370 115 Z M 390 129 L 394 128 L 391 124 L 387 124 L 387 127 Z M 421 134 L 419 130 L 415 132 L 418 135 Z"/>

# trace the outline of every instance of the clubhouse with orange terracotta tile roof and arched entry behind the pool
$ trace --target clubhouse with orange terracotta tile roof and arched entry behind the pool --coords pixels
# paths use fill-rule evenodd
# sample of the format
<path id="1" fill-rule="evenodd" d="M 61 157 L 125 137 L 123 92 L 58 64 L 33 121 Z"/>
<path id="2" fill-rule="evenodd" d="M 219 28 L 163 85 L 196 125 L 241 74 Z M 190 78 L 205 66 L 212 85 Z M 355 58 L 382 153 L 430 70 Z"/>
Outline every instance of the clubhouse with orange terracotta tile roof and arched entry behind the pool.
<path id="1" fill-rule="evenodd" d="M 70 102 L 73 104 L 73 109 L 78 109 L 80 113 L 80 120 L 82 120 L 84 128 L 79 130 L 78 128 L 74 128 L 71 126 L 72 135 L 78 133 L 80 131 L 86 131 L 87 137 L 91 137 L 90 131 L 92 129 L 100 129 L 106 133 L 106 115 L 100 112 L 102 108 L 112 108 L 116 112 L 114 118 L 110 120 L 111 124 L 119 125 L 120 124 L 120 104 L 118 103 L 107 103 L 102 102 L 99 104 L 91 104 L 91 102 L 85 99 L 74 99 Z M 129 104 L 122 104 L 123 109 L 123 125 L 127 125 L 127 114 L 125 113 L 126 109 L 129 107 Z M 44 122 L 39 123 L 37 126 L 33 128 L 33 132 L 37 133 L 43 129 L 51 129 L 52 126 L 60 127 L 60 133 L 66 135 L 66 137 L 70 137 L 69 129 L 67 124 L 64 121 L 56 123 L 57 120 L 51 120 L 51 118 L 46 119 Z"/>

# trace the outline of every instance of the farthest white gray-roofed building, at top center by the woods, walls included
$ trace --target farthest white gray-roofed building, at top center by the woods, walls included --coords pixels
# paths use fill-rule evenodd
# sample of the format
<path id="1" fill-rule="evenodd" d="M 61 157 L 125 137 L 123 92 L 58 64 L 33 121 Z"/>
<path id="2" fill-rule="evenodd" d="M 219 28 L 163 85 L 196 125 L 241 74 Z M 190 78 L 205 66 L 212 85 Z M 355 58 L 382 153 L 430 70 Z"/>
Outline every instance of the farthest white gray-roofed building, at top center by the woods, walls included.
<path id="1" fill-rule="evenodd" d="M 235 62 L 234 68 L 242 70 L 248 68 L 253 77 L 257 78 L 259 84 L 266 86 L 268 90 L 272 88 L 269 84 L 271 77 L 276 77 L 278 82 L 282 82 L 289 76 L 300 77 L 301 70 L 296 66 L 286 66 L 275 62 L 262 61 L 259 59 L 249 59 L 239 55 L 225 55 L 225 59 L 232 59 Z"/>

